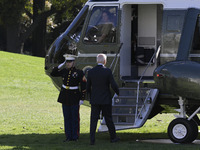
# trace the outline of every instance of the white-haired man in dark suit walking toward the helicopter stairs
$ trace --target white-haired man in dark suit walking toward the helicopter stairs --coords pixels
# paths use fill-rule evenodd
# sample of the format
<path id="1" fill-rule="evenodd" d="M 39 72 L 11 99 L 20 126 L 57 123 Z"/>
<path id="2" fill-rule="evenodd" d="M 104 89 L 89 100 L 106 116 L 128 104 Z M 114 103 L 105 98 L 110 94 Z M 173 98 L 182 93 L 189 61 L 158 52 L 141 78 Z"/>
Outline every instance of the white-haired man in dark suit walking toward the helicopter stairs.
<path id="1" fill-rule="evenodd" d="M 105 117 L 111 142 L 119 141 L 116 136 L 115 126 L 112 120 L 112 96 L 110 85 L 117 95 L 118 86 L 112 72 L 105 67 L 107 57 L 105 54 L 97 55 L 98 65 L 88 71 L 87 92 L 90 94 L 91 117 L 90 117 L 90 144 L 95 143 L 95 132 L 100 112 Z"/>

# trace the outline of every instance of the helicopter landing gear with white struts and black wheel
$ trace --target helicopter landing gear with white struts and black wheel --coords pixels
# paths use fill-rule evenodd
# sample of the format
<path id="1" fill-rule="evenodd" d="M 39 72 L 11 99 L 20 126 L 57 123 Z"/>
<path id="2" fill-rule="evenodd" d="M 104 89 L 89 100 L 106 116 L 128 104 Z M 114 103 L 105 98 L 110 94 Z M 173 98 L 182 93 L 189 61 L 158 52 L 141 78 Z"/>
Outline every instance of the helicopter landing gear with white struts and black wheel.
<path id="1" fill-rule="evenodd" d="M 174 143 L 191 143 L 198 136 L 198 125 L 192 117 L 198 113 L 200 107 L 187 119 L 185 100 L 179 99 L 179 115 L 168 126 L 168 136 Z"/>

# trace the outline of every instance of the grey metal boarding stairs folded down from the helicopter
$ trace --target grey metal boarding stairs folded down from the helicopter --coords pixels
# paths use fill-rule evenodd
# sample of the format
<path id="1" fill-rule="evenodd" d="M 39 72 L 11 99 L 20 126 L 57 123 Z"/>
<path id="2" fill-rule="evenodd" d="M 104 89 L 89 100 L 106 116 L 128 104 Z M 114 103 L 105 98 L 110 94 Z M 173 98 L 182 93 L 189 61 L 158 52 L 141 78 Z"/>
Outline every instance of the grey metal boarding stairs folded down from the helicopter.
<path id="1" fill-rule="evenodd" d="M 116 130 L 143 126 L 155 104 L 158 90 L 122 87 L 119 91 L 119 96 L 115 95 L 112 100 L 112 117 Z M 105 119 L 103 118 L 100 121 L 98 131 L 107 130 Z"/>

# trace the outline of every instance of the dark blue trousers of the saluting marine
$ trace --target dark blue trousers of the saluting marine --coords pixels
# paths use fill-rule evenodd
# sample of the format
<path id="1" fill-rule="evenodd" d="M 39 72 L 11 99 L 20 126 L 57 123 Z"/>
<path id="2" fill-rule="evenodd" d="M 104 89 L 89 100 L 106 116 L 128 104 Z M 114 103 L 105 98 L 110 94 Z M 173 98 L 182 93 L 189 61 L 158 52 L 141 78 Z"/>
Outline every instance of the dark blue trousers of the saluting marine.
<path id="1" fill-rule="evenodd" d="M 79 105 L 62 104 L 66 139 L 76 140 L 79 137 Z"/>

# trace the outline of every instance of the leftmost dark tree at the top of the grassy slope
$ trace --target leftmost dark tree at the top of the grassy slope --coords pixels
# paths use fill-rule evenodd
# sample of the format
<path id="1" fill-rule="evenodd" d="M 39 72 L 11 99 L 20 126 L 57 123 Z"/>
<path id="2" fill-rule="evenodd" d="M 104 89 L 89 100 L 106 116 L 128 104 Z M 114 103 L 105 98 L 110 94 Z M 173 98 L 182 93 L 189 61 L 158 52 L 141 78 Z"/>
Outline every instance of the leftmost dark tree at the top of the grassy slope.
<path id="1" fill-rule="evenodd" d="M 0 1 L 0 14 L 2 24 L 6 28 L 6 49 L 11 52 L 20 52 L 19 39 L 20 19 L 26 0 Z"/>

